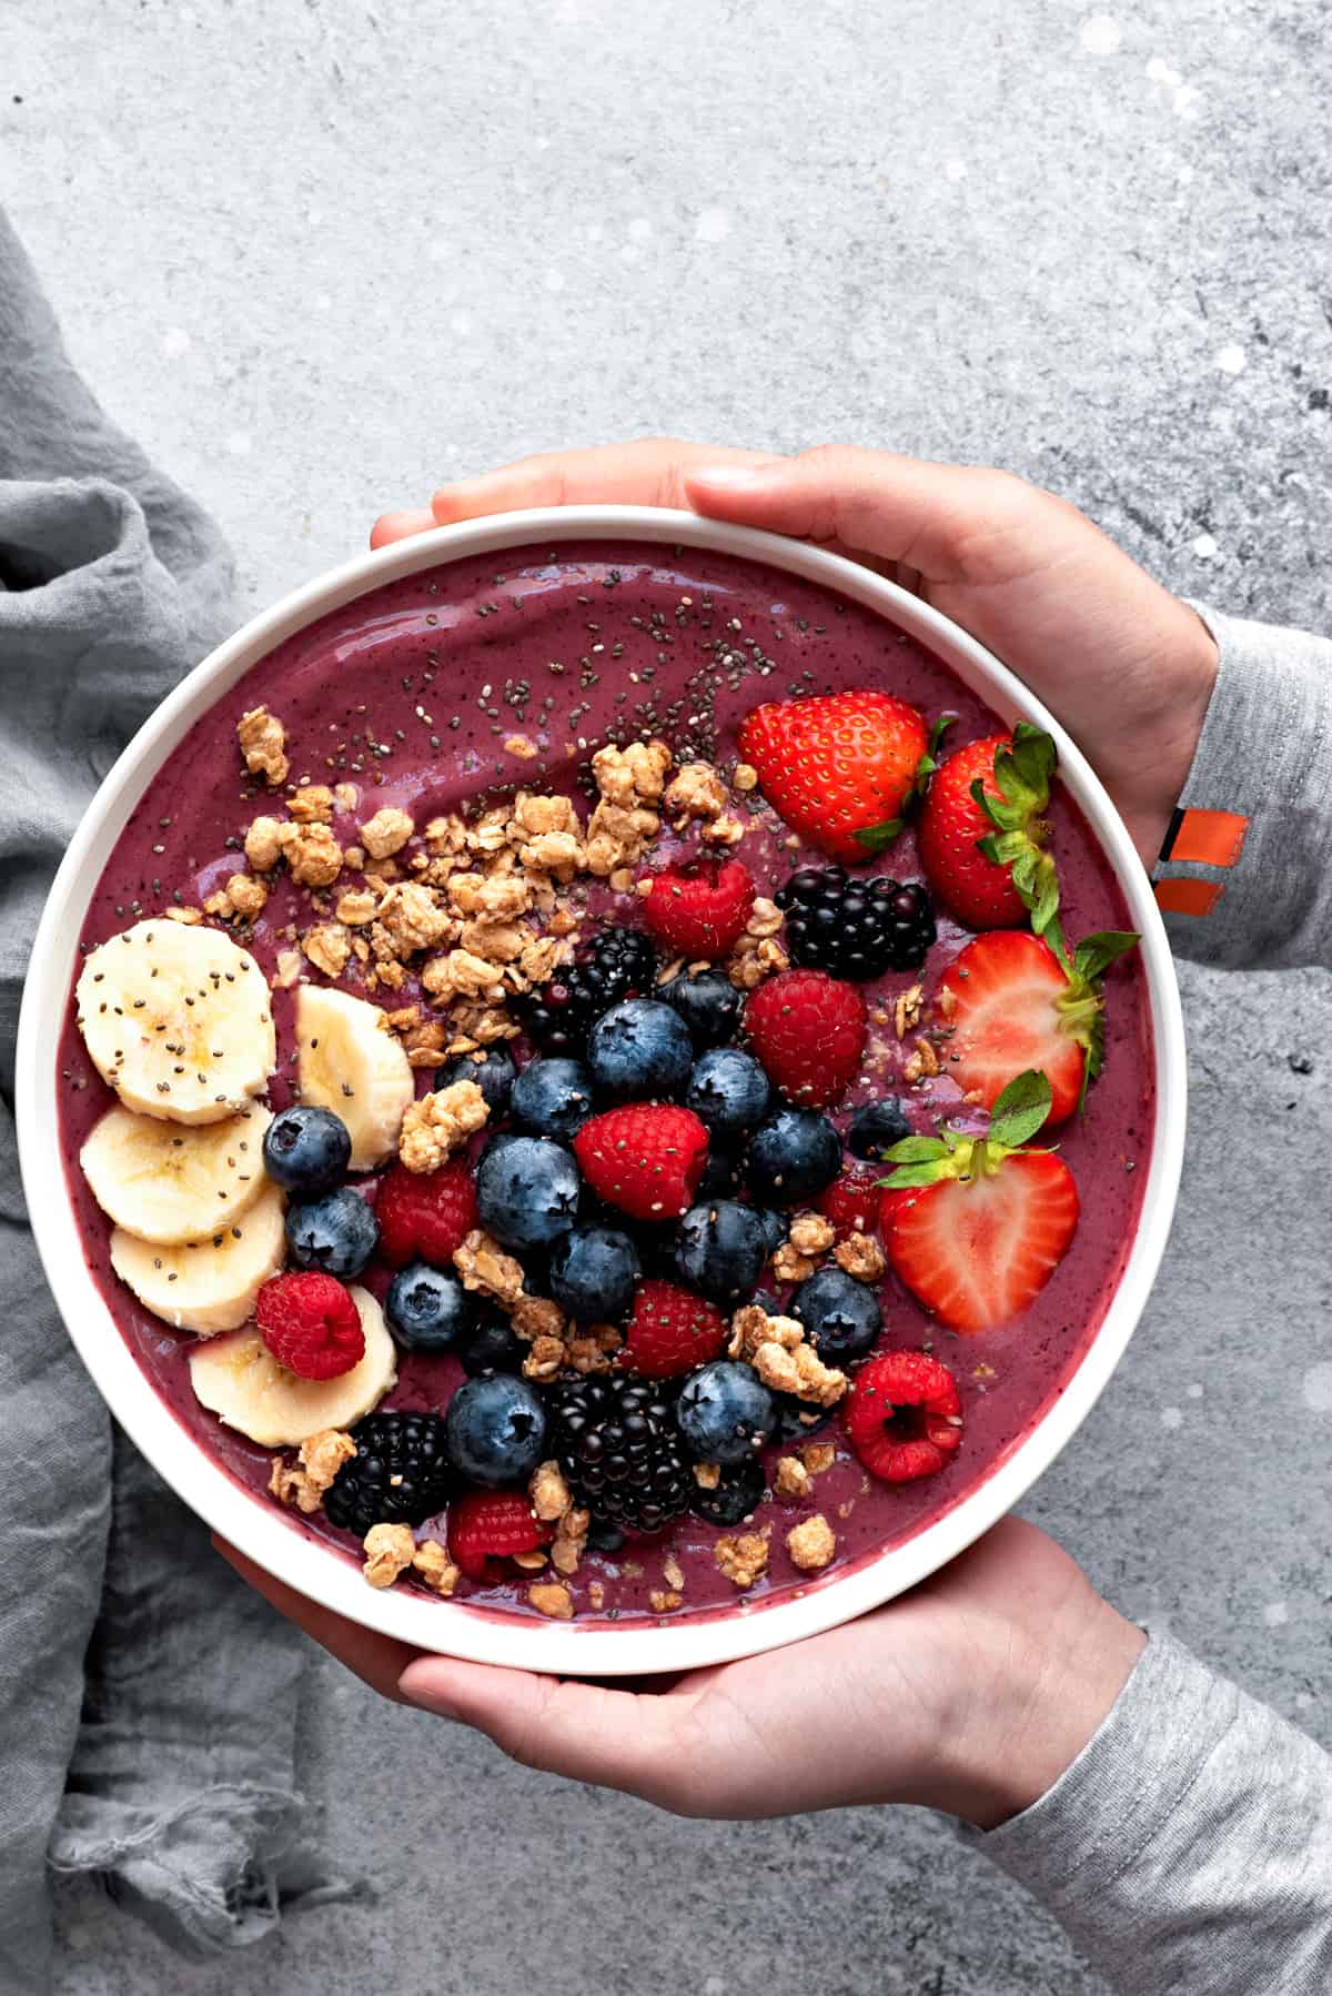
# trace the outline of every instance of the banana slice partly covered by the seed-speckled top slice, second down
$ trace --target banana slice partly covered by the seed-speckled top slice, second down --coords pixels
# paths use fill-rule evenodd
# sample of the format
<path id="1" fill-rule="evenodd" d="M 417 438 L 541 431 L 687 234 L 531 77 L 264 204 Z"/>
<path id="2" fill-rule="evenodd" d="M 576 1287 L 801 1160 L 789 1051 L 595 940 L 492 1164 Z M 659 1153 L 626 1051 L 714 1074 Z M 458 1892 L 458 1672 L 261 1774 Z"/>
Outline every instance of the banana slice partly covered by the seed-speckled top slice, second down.
<path id="1" fill-rule="evenodd" d="M 234 1226 L 264 1192 L 262 1102 L 224 1124 L 164 1124 L 108 1110 L 78 1154 L 104 1214 L 142 1242 L 196 1242 Z"/>

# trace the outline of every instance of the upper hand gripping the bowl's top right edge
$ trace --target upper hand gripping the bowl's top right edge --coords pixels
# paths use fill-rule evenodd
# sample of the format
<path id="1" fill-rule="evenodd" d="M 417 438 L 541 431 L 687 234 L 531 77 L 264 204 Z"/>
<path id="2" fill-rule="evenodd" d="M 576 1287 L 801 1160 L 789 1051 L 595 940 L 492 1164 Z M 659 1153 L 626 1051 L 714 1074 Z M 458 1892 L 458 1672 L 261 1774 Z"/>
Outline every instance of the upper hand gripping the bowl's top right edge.
<path id="1" fill-rule="evenodd" d="M 1064 723 L 1150 866 L 1216 681 L 1202 619 L 1098 527 L 1004 471 L 889 451 L 799 457 L 649 439 L 525 457 L 385 513 L 371 545 L 517 507 L 629 503 L 831 543 L 915 589 L 1010 665 Z"/>

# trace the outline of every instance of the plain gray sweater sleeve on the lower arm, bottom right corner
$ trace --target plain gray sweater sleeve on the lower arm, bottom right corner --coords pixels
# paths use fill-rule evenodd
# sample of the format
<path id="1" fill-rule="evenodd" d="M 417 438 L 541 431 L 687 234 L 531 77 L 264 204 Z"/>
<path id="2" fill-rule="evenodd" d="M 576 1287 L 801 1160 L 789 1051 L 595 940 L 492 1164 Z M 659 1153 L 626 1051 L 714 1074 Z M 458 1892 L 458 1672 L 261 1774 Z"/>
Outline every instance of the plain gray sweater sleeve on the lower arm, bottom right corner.
<path id="1" fill-rule="evenodd" d="M 1124 1996 L 1332 1990 L 1332 1758 L 1170 1637 L 981 1848 Z"/>

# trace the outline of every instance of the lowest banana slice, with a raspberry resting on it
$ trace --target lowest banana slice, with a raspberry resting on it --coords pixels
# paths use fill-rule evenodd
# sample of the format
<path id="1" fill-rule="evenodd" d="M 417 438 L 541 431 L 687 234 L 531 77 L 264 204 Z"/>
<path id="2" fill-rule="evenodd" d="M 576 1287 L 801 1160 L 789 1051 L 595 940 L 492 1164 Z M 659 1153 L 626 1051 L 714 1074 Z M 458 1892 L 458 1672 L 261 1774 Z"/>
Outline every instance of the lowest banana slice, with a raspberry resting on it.
<path id="1" fill-rule="evenodd" d="M 337 1379 L 298 1379 L 250 1327 L 190 1353 L 198 1399 L 266 1449 L 298 1447 L 322 1427 L 351 1427 L 397 1381 L 397 1355 L 379 1305 L 369 1289 L 351 1289 L 351 1299 L 365 1331 L 365 1353 L 351 1371 Z"/>

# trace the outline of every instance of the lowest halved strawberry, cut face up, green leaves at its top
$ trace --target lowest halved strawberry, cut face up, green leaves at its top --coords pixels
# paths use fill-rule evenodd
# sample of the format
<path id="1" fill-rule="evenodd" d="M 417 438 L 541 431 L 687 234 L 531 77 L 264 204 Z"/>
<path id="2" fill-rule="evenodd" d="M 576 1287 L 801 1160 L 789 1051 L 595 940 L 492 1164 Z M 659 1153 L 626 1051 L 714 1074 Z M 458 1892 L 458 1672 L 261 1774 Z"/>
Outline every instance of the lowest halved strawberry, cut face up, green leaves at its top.
<path id="1" fill-rule="evenodd" d="M 1022 1150 L 1046 1120 L 1050 1086 L 1020 1074 L 983 1138 L 895 1144 L 881 1208 L 883 1244 L 907 1287 L 955 1331 L 1016 1317 L 1050 1279 L 1078 1224 L 1078 1188 L 1046 1150 Z"/>

